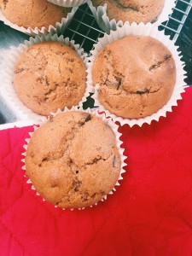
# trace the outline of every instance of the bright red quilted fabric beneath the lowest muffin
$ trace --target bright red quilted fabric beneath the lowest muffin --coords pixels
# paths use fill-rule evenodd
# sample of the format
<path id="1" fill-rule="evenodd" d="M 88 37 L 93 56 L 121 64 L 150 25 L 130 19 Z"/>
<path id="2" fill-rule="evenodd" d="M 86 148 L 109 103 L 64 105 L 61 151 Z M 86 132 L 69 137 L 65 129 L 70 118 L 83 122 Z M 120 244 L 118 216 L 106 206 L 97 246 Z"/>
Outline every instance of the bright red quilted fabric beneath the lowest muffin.
<path id="1" fill-rule="evenodd" d="M 32 127 L 0 131 L 0 255 L 191 255 L 192 88 L 167 118 L 127 125 L 128 166 L 108 201 L 73 212 L 42 201 L 21 170 Z"/>

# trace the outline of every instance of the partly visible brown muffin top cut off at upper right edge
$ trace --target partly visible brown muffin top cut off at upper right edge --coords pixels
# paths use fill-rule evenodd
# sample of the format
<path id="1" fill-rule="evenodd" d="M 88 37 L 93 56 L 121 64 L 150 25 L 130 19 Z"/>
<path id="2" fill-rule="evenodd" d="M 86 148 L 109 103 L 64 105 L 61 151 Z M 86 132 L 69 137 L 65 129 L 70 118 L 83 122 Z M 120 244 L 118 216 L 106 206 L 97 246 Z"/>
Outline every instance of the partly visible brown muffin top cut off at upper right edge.
<path id="1" fill-rule="evenodd" d="M 132 23 L 154 22 L 160 15 L 165 0 L 93 0 L 94 6 L 108 4 L 107 15 L 109 20 L 122 20 Z"/>

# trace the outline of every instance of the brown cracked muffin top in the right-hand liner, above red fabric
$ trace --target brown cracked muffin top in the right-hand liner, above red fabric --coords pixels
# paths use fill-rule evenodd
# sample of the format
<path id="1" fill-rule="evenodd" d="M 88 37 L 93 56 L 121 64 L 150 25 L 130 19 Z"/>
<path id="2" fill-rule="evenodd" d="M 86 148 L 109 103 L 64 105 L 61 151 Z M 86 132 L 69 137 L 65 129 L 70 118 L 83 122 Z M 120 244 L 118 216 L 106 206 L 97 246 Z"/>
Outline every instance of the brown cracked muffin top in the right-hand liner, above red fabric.
<path id="1" fill-rule="evenodd" d="M 92 77 L 93 84 L 99 84 L 99 101 L 108 111 L 137 119 L 166 105 L 176 83 L 176 66 L 160 41 L 130 35 L 99 52 Z"/>

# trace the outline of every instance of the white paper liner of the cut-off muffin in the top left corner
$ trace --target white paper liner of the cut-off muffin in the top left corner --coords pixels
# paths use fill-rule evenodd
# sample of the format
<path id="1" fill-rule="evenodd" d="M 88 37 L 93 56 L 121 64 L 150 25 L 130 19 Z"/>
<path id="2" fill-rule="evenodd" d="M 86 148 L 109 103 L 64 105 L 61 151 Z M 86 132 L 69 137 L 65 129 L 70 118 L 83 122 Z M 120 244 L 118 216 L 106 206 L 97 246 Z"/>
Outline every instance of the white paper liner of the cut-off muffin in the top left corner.
<path id="1" fill-rule="evenodd" d="M 12 28 L 14 28 L 15 30 L 18 30 L 20 32 L 24 32 L 27 35 L 30 36 L 41 36 L 41 35 L 47 35 L 48 33 L 54 34 L 62 34 L 66 28 L 66 26 L 69 24 L 69 22 L 73 19 L 73 15 L 76 13 L 77 11 L 77 7 L 74 7 L 71 12 L 69 12 L 67 14 L 67 17 L 63 17 L 61 20 L 58 20 L 58 22 L 56 22 L 55 26 L 53 25 L 49 25 L 49 28 L 46 28 L 45 26 L 43 27 L 24 27 L 24 26 L 18 26 L 14 23 L 12 23 L 11 21 L 9 21 L 4 15 L 2 10 L 0 9 L 0 20 L 2 20 L 4 22 L 5 25 L 10 26 Z"/>

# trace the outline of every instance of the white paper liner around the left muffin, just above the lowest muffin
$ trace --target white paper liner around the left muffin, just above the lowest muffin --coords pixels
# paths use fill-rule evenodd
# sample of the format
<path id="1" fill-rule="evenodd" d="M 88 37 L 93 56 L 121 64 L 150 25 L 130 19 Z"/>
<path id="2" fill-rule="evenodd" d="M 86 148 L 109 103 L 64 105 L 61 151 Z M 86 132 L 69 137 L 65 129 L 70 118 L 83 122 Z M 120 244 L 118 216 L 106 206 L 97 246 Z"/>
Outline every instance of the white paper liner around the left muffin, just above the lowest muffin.
<path id="1" fill-rule="evenodd" d="M 20 44 L 19 47 L 11 47 L 6 51 L 5 55 L 2 55 L 2 69 L 1 69 L 1 79 L 3 81 L 0 94 L 3 96 L 5 102 L 7 102 L 9 108 L 11 108 L 16 116 L 25 120 L 34 121 L 36 124 L 37 121 L 44 121 L 47 117 L 39 115 L 38 113 L 32 112 L 30 108 L 27 108 L 23 102 L 20 101 L 20 98 L 17 96 L 13 84 L 14 80 L 14 67 L 15 62 L 19 59 L 20 54 L 23 53 L 27 48 L 32 44 L 38 44 L 44 41 L 57 41 L 63 44 L 70 46 L 72 49 L 75 49 L 82 61 L 84 61 L 85 67 L 87 66 L 87 54 L 84 53 L 84 49 L 79 48 L 79 44 L 75 44 L 74 41 L 69 41 L 69 38 L 63 38 L 63 36 L 58 37 L 56 34 L 51 36 L 50 34 L 46 36 L 36 36 L 35 38 L 30 38 L 29 41 L 25 41 L 25 44 Z M 86 102 L 87 96 L 90 96 L 88 87 L 86 86 L 84 96 L 79 102 L 78 106 L 82 106 L 83 102 Z"/>

